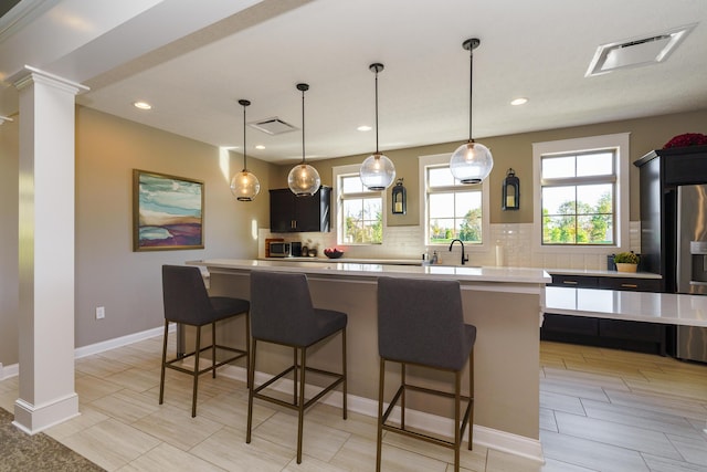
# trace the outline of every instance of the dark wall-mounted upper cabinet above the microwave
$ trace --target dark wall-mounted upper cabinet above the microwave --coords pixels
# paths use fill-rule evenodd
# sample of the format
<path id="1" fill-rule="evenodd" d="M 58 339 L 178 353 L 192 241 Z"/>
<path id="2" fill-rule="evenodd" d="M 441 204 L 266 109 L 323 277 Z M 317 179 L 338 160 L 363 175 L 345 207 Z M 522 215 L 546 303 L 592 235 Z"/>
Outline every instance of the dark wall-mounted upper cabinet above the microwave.
<path id="1" fill-rule="evenodd" d="M 274 233 L 330 231 L 331 187 L 312 197 L 297 197 L 289 189 L 270 191 L 270 230 Z"/>

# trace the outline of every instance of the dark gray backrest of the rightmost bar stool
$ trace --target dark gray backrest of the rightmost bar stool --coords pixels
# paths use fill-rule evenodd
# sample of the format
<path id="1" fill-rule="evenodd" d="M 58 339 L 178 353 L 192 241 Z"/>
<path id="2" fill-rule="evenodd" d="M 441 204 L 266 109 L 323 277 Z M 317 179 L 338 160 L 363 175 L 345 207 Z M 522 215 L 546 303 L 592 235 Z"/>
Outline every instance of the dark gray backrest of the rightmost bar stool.
<path id="1" fill-rule="evenodd" d="M 378 350 L 390 360 L 458 369 L 468 357 L 457 281 L 378 279 Z"/>

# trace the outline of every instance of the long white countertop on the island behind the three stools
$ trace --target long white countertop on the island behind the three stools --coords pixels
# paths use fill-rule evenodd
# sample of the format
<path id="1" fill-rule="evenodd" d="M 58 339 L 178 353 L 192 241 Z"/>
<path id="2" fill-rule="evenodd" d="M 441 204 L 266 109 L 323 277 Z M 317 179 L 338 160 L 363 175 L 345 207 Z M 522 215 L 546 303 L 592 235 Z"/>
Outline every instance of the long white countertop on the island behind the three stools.
<path id="1" fill-rule="evenodd" d="M 523 283 L 541 284 L 550 283 L 552 279 L 542 269 L 523 268 L 472 268 L 451 265 L 390 265 L 366 264 L 354 262 L 314 262 L 314 261 L 277 261 L 252 259 L 210 259 L 205 261 L 192 261 L 191 265 L 212 269 L 236 270 L 277 270 L 283 272 L 304 272 L 307 274 L 326 274 L 341 276 L 409 276 L 409 277 L 439 277 L 453 279 L 460 282 L 488 282 L 488 283 Z"/>

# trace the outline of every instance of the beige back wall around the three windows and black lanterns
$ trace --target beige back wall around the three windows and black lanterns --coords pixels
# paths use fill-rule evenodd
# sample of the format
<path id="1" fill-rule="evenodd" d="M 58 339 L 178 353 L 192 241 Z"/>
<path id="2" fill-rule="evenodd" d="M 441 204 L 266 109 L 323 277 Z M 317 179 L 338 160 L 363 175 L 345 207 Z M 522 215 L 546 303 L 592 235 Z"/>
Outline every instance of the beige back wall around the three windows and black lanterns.
<path id="1" fill-rule="evenodd" d="M 509 136 L 478 138 L 477 141 L 488 146 L 494 155 L 494 170 L 490 178 L 490 222 L 492 223 L 531 223 L 532 222 L 532 143 L 558 139 L 572 139 L 587 136 L 599 136 L 614 133 L 631 133 L 631 158 L 633 164 L 641 156 L 653 149 L 659 149 L 673 136 L 683 133 L 707 134 L 707 111 L 662 115 L 648 118 L 627 119 L 602 123 L 598 125 L 577 126 L 572 128 L 547 132 L 524 133 Z M 452 154 L 460 143 L 446 143 L 432 146 L 415 147 L 386 151 L 395 165 L 395 174 L 403 177 L 408 189 L 408 214 L 388 218 L 389 225 L 419 224 L 419 179 L 418 157 L 449 153 Z M 331 167 L 345 164 L 362 162 L 368 155 L 349 156 L 338 159 L 317 160 L 313 164 L 321 182 L 331 185 Z M 281 166 L 274 180 L 277 187 L 287 186 L 287 172 L 292 166 Z M 500 209 L 500 185 L 506 170 L 513 167 L 520 179 L 520 210 L 503 211 Z M 640 219 L 639 207 L 639 169 L 631 165 L 631 221 Z M 391 190 L 388 189 L 390 192 Z"/>

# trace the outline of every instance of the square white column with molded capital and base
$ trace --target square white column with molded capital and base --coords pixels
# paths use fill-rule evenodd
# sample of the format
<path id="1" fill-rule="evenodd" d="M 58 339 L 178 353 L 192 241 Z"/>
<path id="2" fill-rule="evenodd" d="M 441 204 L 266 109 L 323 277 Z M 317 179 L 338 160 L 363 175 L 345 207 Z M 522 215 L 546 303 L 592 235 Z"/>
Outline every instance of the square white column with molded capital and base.
<path id="1" fill-rule="evenodd" d="M 78 415 L 74 391 L 74 127 L 80 84 L 25 66 L 20 96 L 19 365 L 14 424 Z"/>

